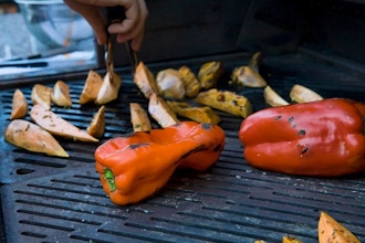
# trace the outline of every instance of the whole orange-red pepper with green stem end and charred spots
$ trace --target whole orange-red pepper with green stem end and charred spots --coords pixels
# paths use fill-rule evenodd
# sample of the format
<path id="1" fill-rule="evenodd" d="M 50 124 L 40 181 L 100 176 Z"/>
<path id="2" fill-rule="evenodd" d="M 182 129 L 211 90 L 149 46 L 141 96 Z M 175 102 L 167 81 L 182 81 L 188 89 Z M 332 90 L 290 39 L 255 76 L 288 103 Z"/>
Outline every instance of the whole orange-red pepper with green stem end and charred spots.
<path id="1" fill-rule="evenodd" d="M 206 170 L 225 147 L 217 125 L 181 122 L 107 140 L 95 150 L 96 171 L 118 205 L 137 203 L 160 190 L 178 167 Z"/>

